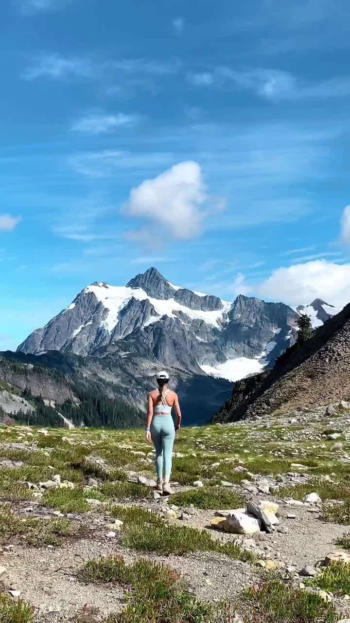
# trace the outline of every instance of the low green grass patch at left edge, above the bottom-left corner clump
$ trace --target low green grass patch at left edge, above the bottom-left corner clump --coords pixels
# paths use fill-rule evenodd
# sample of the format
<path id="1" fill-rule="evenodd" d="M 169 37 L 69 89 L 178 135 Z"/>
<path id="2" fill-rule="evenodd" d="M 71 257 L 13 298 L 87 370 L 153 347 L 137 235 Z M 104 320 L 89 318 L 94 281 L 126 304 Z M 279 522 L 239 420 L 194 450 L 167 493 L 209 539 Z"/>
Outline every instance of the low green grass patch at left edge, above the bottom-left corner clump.
<path id="1" fill-rule="evenodd" d="M 0 543 L 11 536 L 25 535 L 27 545 L 61 545 L 63 538 L 77 534 L 78 528 L 66 519 L 21 519 L 11 508 L 0 505 Z"/>

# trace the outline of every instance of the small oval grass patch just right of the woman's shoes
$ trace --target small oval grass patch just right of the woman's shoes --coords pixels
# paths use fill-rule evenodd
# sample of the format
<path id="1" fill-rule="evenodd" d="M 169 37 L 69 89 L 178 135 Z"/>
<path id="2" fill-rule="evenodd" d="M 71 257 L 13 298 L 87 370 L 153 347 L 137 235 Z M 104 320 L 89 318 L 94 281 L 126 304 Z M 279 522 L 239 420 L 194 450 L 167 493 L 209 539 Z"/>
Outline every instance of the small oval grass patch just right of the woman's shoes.
<path id="1" fill-rule="evenodd" d="M 225 488 L 202 487 L 177 493 L 171 498 L 171 502 L 176 506 L 195 506 L 203 510 L 218 508 L 240 508 L 245 506 L 244 498 Z"/>

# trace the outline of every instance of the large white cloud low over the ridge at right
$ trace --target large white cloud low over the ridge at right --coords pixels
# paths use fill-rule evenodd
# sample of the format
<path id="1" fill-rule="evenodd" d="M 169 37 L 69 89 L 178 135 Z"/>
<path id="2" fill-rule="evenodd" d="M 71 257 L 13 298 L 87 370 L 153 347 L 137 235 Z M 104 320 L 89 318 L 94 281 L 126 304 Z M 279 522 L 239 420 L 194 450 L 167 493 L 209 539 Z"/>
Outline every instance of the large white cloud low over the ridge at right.
<path id="1" fill-rule="evenodd" d="M 323 298 L 330 305 L 343 307 L 350 302 L 350 264 L 315 260 L 281 267 L 273 270 L 255 291 L 265 300 L 293 306 Z"/>

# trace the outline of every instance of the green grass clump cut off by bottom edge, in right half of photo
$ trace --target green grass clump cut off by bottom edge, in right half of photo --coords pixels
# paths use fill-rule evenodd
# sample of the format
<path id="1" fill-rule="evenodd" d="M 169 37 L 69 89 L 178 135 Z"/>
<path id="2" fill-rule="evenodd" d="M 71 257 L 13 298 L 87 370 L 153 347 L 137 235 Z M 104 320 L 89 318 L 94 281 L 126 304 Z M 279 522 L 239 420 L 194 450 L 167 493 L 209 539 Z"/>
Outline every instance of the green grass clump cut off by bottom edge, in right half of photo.
<path id="1" fill-rule="evenodd" d="M 335 623 L 337 620 L 334 607 L 326 604 L 318 594 L 289 587 L 278 580 L 248 589 L 245 598 L 253 610 L 250 621 Z"/>

